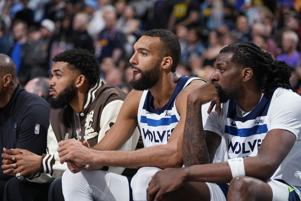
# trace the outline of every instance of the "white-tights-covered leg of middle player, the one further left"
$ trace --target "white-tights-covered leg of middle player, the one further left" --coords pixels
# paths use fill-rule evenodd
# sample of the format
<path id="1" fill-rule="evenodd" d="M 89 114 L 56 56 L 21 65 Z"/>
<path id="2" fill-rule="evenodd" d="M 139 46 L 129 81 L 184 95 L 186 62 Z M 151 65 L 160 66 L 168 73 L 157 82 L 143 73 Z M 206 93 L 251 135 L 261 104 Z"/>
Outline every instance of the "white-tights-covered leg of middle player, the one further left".
<path id="1" fill-rule="evenodd" d="M 62 177 L 62 189 L 66 201 L 129 200 L 128 179 L 102 170 L 86 170 L 76 174 L 67 170 Z"/>

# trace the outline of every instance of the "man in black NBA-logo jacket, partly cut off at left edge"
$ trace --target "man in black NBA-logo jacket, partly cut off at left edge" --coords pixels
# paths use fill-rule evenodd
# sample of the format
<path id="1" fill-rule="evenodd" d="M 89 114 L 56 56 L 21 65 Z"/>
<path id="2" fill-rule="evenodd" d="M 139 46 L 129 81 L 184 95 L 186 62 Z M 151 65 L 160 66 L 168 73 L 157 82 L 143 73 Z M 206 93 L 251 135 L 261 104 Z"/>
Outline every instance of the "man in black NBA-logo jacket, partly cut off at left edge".
<path id="1" fill-rule="evenodd" d="M 3 151 L 20 148 L 42 155 L 46 151 L 50 107 L 43 98 L 25 91 L 18 85 L 16 76 L 17 70 L 13 60 L 5 54 L 0 54 L 0 144 Z M 1 161 L 3 171 L 0 171 L 0 199 L 2 200 L 5 184 L 10 178 L 18 176 L 16 174 L 21 170 L 12 164 L 18 163 L 18 159 L 6 160 L 5 153 L 1 157 L 3 158 Z M 15 179 L 17 180 L 16 177 Z"/>

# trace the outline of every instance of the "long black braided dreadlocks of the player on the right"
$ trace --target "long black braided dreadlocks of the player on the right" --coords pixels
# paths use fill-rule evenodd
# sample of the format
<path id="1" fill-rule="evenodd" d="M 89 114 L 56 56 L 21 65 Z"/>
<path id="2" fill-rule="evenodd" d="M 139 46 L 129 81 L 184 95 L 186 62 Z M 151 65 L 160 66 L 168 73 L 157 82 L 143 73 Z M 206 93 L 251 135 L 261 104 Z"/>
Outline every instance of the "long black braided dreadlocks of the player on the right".
<path id="1" fill-rule="evenodd" d="M 289 82 L 291 71 L 283 61 L 272 58 L 268 52 L 262 51 L 254 43 L 235 43 L 224 47 L 219 53 L 232 52 L 232 62 L 242 68 L 252 68 L 256 79 L 261 83 L 264 93 L 272 93 L 274 87 L 294 88 Z"/>

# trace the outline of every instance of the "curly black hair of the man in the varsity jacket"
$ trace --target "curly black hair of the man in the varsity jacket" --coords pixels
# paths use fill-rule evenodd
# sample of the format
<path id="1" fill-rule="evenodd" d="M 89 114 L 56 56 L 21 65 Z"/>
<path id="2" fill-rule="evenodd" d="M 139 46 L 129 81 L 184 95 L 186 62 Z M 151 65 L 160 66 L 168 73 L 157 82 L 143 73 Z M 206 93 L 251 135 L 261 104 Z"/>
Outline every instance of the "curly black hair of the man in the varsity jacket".
<path id="1" fill-rule="evenodd" d="M 88 80 L 90 85 L 96 84 L 99 80 L 100 68 L 95 55 L 81 48 L 65 50 L 52 59 L 54 62 L 67 62 L 71 69 L 79 70 Z"/>

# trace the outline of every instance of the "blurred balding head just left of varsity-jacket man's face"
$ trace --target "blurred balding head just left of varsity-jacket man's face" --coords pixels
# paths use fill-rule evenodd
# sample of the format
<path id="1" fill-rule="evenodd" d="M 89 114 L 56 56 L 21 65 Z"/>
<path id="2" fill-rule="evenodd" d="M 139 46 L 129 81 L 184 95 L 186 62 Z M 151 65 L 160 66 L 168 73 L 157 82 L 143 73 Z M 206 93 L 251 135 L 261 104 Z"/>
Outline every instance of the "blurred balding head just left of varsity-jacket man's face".
<path id="1" fill-rule="evenodd" d="M 24 86 L 24 89 L 29 93 L 37 94 L 45 100 L 49 99 L 49 82 L 50 78 L 37 77 L 32 80 L 29 80 L 28 83 Z"/>

